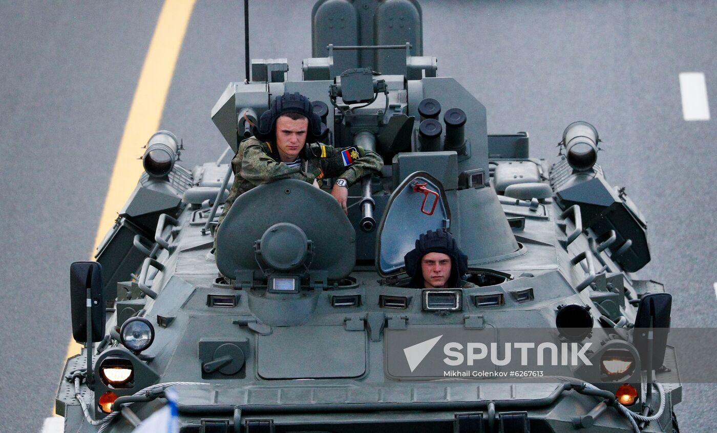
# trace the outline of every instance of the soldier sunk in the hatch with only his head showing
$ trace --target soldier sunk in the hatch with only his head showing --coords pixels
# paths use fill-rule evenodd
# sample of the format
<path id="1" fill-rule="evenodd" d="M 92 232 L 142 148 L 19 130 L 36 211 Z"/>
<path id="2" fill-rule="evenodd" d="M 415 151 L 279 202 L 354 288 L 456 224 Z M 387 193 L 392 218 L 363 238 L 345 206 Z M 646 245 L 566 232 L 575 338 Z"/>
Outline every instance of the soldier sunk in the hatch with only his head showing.
<path id="1" fill-rule="evenodd" d="M 416 240 L 416 248 L 404 256 L 412 288 L 478 287 L 462 279 L 468 271 L 468 258 L 458 249 L 446 230 L 428 230 Z"/>

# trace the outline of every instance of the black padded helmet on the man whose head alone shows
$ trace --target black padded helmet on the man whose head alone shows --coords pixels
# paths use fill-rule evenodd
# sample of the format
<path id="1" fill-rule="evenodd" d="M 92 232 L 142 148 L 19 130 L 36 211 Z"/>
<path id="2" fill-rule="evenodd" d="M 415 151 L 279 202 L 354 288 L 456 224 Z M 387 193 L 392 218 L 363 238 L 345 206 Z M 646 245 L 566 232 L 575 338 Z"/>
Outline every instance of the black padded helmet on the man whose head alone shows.
<path id="1" fill-rule="evenodd" d="M 428 230 L 416 240 L 416 248 L 404 256 L 406 273 L 411 277 L 409 287 L 424 287 L 421 260 L 428 253 L 443 253 L 450 256 L 451 268 L 448 287 L 458 287 L 460 277 L 468 271 L 468 258 L 458 249 L 457 242 L 446 230 Z"/>

